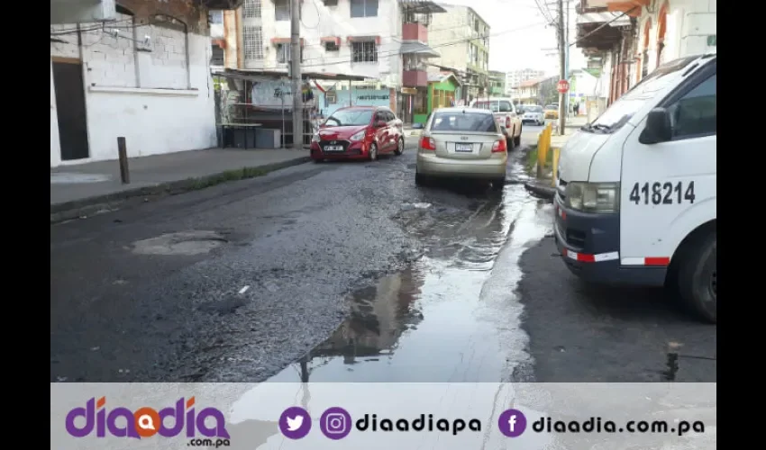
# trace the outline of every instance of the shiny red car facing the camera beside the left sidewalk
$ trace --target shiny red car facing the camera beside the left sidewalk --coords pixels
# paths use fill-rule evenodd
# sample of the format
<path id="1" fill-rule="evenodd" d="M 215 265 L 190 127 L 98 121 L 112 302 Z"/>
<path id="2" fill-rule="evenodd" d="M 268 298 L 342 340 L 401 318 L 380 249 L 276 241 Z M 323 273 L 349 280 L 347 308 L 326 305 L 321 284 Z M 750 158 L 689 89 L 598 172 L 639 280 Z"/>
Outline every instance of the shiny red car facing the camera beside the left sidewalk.
<path id="1" fill-rule="evenodd" d="M 405 150 L 402 121 L 383 106 L 349 106 L 327 118 L 311 139 L 311 158 L 369 159 Z"/>

